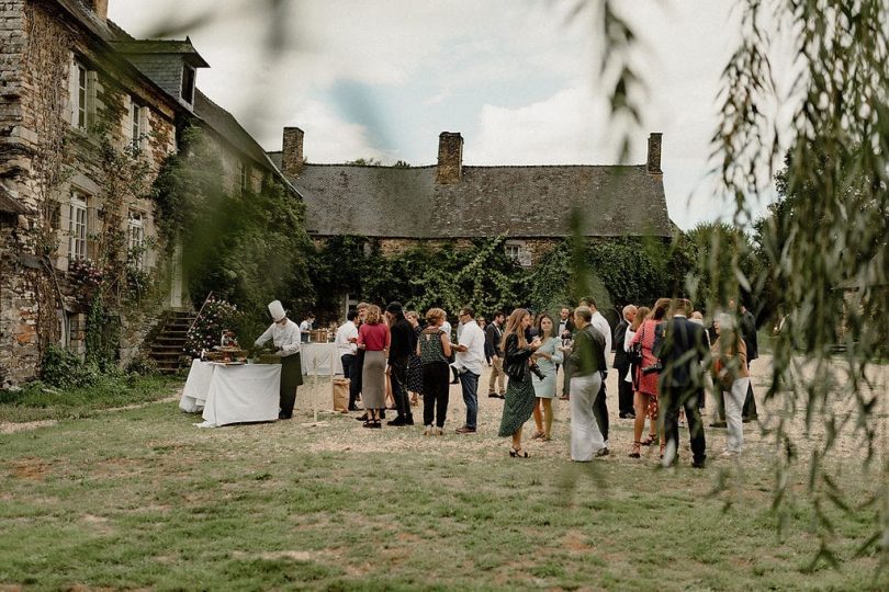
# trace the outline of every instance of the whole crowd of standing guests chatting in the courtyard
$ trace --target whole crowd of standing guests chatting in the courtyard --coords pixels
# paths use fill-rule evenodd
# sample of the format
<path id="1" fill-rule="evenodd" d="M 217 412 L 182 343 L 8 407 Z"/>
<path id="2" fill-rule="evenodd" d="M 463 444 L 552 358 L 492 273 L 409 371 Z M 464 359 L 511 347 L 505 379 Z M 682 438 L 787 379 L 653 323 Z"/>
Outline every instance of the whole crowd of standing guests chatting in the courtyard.
<path id="1" fill-rule="evenodd" d="M 397 414 L 387 424 L 414 425 L 412 401 L 421 397 L 424 435 L 441 435 L 454 376 L 465 405 L 465 421 L 457 433 L 473 434 L 479 379 L 488 365 L 488 397 L 504 399 L 498 434 L 510 439 L 510 456 L 527 458 L 522 428 L 531 417 L 532 437 L 543 442 L 552 437 L 552 400 L 560 395 L 561 368 L 560 398 L 571 401 L 571 456 L 588 462 L 609 454 L 605 382 L 614 341 L 619 417 L 634 422 L 631 457 L 640 458 L 642 446 L 656 443 L 664 464 L 674 463 L 684 415 L 693 466 L 704 466 L 700 410 L 708 374 L 720 409 L 711 426 L 728 428 L 724 455 L 740 453 L 742 423 L 756 417 L 749 372 L 749 362 L 756 356 L 750 311 L 742 307 L 739 315 L 731 301 L 729 310 L 714 317 L 712 335 L 704 327 L 702 315 L 693 311 L 686 299 L 661 298 L 651 308 L 629 305 L 622 317 L 612 334 L 593 298 L 574 309 L 562 308 L 558 319 L 549 314 L 532 317 L 517 308 L 508 317 L 495 312 L 488 325 L 464 307 L 458 314 L 457 341 L 452 341 L 447 312 L 440 308 L 420 317 L 405 311 L 400 303 L 391 303 L 385 310 L 361 303 L 336 335 L 344 374 L 350 379 L 349 410 L 359 410 L 360 397 L 363 414 L 357 419 L 365 428 L 379 429 L 391 392 Z M 705 372 L 708 366 L 709 373 Z M 643 440 L 646 420 L 649 432 Z"/>

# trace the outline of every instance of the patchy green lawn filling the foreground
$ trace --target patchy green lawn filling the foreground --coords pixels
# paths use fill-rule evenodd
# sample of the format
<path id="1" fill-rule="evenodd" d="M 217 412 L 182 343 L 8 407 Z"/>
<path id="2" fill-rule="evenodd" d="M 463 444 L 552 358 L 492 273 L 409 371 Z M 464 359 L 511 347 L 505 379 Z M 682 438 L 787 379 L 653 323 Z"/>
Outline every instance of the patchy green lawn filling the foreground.
<path id="1" fill-rule="evenodd" d="M 305 390 L 301 390 L 305 392 Z M 700 471 L 614 453 L 567 459 L 555 439 L 510 459 L 502 402 L 483 433 L 362 430 L 345 415 L 200 430 L 173 402 L 0 435 L 0 584 L 35 589 L 885 590 L 875 556 L 854 558 L 874 509 L 834 520 L 839 569 L 809 572 L 818 548 L 800 508 L 784 538 L 770 512 L 772 447 L 751 429 L 741 466 Z M 724 431 L 708 433 L 710 446 Z M 685 433 L 683 437 L 685 437 Z M 721 439 L 721 440 L 720 440 Z M 801 489 L 800 467 L 791 478 Z M 709 497 L 720 476 L 727 492 Z M 844 474 L 864 500 L 873 476 Z"/>

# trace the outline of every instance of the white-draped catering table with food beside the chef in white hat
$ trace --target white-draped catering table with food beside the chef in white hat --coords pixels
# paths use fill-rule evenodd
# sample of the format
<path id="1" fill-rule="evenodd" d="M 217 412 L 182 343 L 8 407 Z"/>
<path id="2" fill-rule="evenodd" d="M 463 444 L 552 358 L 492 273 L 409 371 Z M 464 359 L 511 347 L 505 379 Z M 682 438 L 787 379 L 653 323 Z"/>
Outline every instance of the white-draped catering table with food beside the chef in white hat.
<path id="1" fill-rule="evenodd" d="M 195 360 L 179 407 L 195 412 L 203 405 L 202 428 L 275 421 L 280 388 L 279 364 L 226 365 Z"/>

